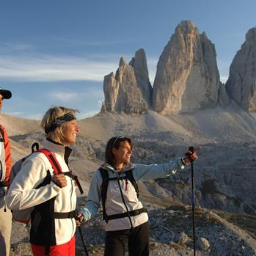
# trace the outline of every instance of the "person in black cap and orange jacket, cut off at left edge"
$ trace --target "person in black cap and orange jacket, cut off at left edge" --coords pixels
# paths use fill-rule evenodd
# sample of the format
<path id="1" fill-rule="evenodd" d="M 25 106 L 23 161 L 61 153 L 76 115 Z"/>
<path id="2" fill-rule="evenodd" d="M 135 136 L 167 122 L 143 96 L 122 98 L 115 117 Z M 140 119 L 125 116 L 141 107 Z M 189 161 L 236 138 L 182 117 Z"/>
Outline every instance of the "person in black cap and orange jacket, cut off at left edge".
<path id="1" fill-rule="evenodd" d="M 0 88 L 0 111 L 4 100 L 12 98 L 12 92 Z M 12 167 L 10 140 L 4 125 L 0 123 L 0 254 L 9 255 L 12 230 L 12 213 L 6 207 L 5 195 Z"/>

